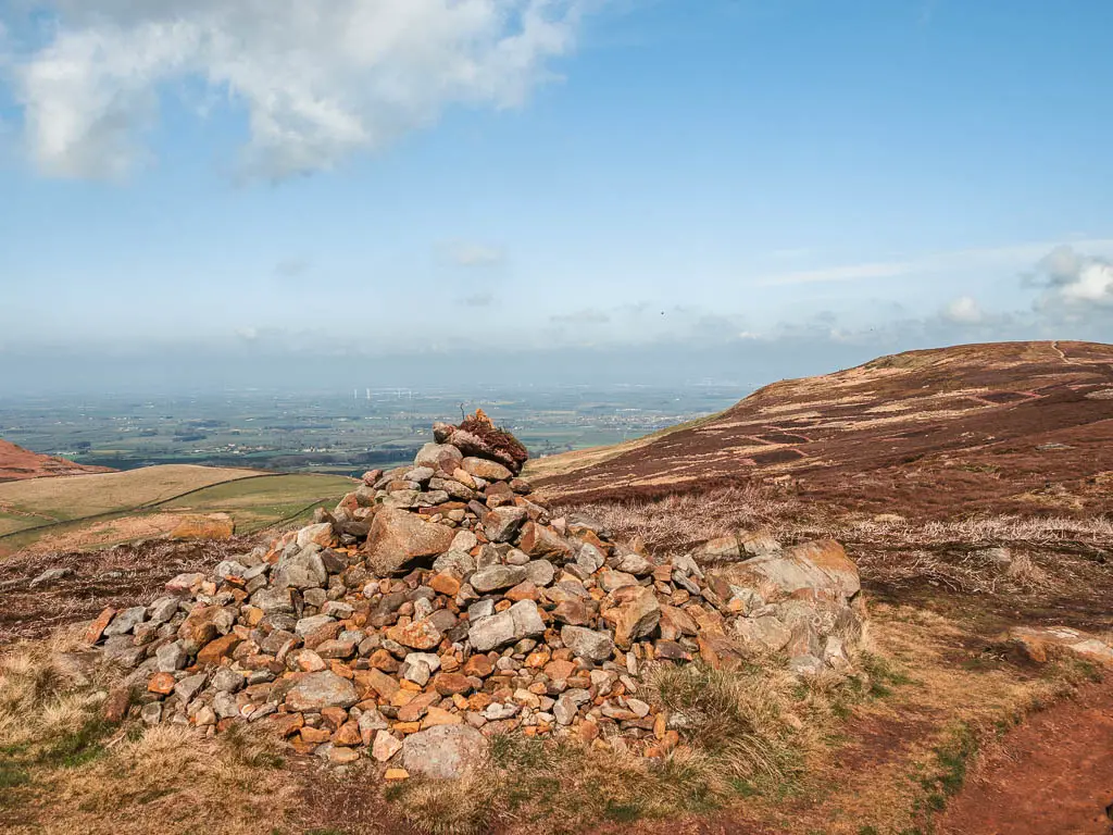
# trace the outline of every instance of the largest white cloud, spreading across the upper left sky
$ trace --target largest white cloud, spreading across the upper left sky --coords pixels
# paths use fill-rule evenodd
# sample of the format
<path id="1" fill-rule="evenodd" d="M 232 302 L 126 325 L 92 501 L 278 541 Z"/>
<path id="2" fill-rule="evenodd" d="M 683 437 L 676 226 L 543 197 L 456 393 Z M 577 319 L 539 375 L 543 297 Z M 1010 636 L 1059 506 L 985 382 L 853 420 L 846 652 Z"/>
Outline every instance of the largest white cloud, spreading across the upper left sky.
<path id="1" fill-rule="evenodd" d="M 59 177 L 128 174 L 184 80 L 248 117 L 243 164 L 282 178 L 375 151 L 452 105 L 514 107 L 573 46 L 582 0 L 32 0 L 16 62 L 30 153 Z"/>

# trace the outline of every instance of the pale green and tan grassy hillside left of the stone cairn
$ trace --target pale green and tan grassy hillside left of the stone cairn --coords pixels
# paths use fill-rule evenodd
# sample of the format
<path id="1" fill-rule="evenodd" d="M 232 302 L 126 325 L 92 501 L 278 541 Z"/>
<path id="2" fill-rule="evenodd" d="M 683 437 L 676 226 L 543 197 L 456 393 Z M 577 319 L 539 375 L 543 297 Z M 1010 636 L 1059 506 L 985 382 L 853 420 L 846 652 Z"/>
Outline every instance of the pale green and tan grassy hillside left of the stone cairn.
<path id="1" fill-rule="evenodd" d="M 191 465 L 0 484 L 0 554 L 101 548 L 164 536 L 183 515 L 228 513 L 237 533 L 307 519 L 353 488 L 314 473 Z"/>

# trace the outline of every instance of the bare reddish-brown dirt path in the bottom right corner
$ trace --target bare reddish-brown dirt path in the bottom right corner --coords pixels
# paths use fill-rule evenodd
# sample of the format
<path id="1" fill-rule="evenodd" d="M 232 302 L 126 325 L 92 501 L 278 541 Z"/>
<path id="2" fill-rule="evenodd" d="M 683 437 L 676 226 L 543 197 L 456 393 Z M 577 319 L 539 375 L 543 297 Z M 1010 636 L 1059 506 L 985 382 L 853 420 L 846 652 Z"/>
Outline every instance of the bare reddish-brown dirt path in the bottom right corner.
<path id="1" fill-rule="evenodd" d="M 1031 716 L 939 818 L 939 835 L 1109 835 L 1113 686 Z"/>

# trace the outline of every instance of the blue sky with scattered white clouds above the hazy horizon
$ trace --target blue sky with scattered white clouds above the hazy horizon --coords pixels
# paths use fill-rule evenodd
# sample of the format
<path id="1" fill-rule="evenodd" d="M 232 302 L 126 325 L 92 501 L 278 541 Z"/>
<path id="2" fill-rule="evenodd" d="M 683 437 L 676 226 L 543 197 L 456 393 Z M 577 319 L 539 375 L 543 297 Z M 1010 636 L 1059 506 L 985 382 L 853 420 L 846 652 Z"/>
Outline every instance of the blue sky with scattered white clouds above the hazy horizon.
<path id="1" fill-rule="evenodd" d="M 1113 341 L 1107 0 L 0 0 L 0 393 Z"/>

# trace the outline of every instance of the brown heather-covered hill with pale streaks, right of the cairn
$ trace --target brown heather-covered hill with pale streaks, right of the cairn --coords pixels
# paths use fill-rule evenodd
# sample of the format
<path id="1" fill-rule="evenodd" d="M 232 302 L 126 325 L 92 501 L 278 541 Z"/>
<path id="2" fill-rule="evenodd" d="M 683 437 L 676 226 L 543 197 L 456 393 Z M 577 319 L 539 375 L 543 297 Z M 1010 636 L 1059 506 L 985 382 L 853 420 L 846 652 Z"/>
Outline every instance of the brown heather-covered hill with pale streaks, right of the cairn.
<path id="1" fill-rule="evenodd" d="M 535 462 L 565 501 L 780 483 L 845 510 L 953 517 L 1105 512 L 1113 345 L 912 351 L 768 385 L 718 415 Z"/>

